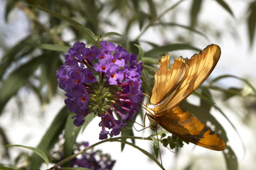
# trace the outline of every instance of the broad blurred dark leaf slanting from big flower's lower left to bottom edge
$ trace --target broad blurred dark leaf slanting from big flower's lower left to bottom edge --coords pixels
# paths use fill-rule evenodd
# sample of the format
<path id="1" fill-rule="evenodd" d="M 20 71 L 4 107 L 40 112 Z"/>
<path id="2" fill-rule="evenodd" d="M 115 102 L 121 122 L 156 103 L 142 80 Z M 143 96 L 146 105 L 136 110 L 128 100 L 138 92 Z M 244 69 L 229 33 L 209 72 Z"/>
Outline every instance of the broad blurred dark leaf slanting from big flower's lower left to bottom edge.
<path id="1" fill-rule="evenodd" d="M 46 131 L 43 139 L 38 145 L 38 149 L 43 150 L 46 154 L 50 154 L 50 149 L 53 148 L 55 143 L 58 141 L 58 137 L 63 129 L 65 128 L 65 123 L 67 121 L 68 115 L 71 114 L 66 106 L 64 106 L 61 111 L 55 116 L 53 123 Z M 42 164 L 41 159 L 38 159 L 37 154 L 31 156 L 31 170 L 39 169 Z"/>

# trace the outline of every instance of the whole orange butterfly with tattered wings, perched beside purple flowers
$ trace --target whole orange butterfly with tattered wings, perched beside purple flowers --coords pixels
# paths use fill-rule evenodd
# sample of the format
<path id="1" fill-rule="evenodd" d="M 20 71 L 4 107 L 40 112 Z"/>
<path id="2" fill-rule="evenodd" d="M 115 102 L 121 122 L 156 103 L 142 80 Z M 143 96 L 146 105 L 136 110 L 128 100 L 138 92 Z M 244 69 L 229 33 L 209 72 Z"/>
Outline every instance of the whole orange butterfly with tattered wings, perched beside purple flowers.
<path id="1" fill-rule="evenodd" d="M 161 57 L 160 67 L 156 64 L 154 88 L 146 107 L 151 130 L 157 125 L 195 145 L 221 151 L 225 142 L 195 115 L 181 106 L 185 100 L 213 71 L 220 58 L 220 47 L 208 45 L 203 52 L 191 59 L 178 57 L 169 66 L 169 54 Z M 146 104 L 147 105 L 147 104 Z"/>

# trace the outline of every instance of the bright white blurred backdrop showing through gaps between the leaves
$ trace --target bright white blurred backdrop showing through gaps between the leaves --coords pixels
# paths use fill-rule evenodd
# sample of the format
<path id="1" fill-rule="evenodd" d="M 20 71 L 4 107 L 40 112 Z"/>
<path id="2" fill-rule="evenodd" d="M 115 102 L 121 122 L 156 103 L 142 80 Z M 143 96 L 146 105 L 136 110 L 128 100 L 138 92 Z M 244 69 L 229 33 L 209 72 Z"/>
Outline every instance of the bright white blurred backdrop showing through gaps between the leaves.
<path id="1" fill-rule="evenodd" d="M 244 14 L 246 13 L 246 6 L 244 1 L 226 1 L 230 8 L 232 8 L 235 18 L 232 18 L 230 14 L 221 8 L 215 1 L 207 0 L 203 5 L 203 10 L 201 11 L 198 23 L 201 21 L 208 21 L 209 23 L 213 23 L 213 26 L 216 28 L 223 30 L 224 35 L 220 40 L 215 40 L 215 38 L 208 35 L 210 40 L 203 39 L 198 35 L 198 40 L 195 42 L 196 47 L 201 47 L 202 49 L 211 43 L 218 44 L 221 47 L 222 54 L 220 57 L 220 61 L 215 67 L 213 73 L 210 75 L 209 79 L 214 79 L 223 74 L 233 74 L 238 77 L 247 78 L 250 80 L 252 85 L 256 86 L 256 43 L 252 49 L 249 49 L 249 41 L 247 39 L 247 26 L 243 21 Z M 6 44 L 10 47 L 14 45 L 18 40 L 21 40 L 23 37 L 28 35 L 29 26 L 26 21 L 26 17 L 23 15 L 21 11 L 14 10 L 11 13 L 10 22 L 8 24 L 4 23 L 4 5 L 3 1 L 0 0 L 0 29 L 8 29 L 9 35 L 8 38 L 4 38 Z M 174 3 L 171 3 L 174 4 Z M 169 4 L 169 6 L 171 6 Z M 189 12 L 190 1 L 184 1 L 179 5 L 179 9 L 182 11 L 181 21 L 179 23 L 188 24 L 186 18 Z M 166 6 L 163 7 L 163 11 Z M 183 11 L 186 11 L 183 12 Z M 159 11 L 160 13 L 160 11 Z M 167 13 L 165 17 L 169 17 L 171 13 Z M 230 28 L 227 28 L 225 22 L 230 21 Z M 229 33 L 235 28 L 238 33 L 238 40 L 233 38 Z M 215 28 L 212 28 L 213 30 Z M 177 28 L 178 30 L 178 28 Z M 106 28 L 107 31 L 115 31 L 119 32 L 117 28 Z M 183 30 L 181 30 L 183 31 Z M 186 30 L 185 30 L 186 31 Z M 119 32 L 122 33 L 122 32 Z M 139 29 L 134 27 L 132 33 L 130 34 L 131 38 L 135 38 L 139 33 Z M 168 33 L 168 28 L 166 28 L 166 33 Z M 0 35 L 0 38 L 3 38 L 3 35 Z M 72 38 L 72 35 L 67 35 L 66 37 Z M 172 33 L 168 33 L 168 37 L 166 40 L 172 40 L 174 35 Z M 163 43 L 161 37 L 159 37 L 159 31 L 156 29 L 147 30 L 146 34 L 142 36 L 143 40 L 154 40 L 154 42 Z M 175 42 L 174 42 L 175 43 Z M 142 45 L 144 51 L 149 50 L 149 47 L 146 45 Z M 176 55 L 176 57 L 182 55 L 183 57 L 191 57 L 195 52 L 188 50 L 179 50 L 172 52 L 172 55 Z M 0 51 L 0 56 L 2 52 Z M 220 84 L 225 87 L 242 87 L 244 84 L 241 81 L 237 81 L 235 79 L 225 79 L 220 81 Z M 5 108 L 5 113 L 0 117 L 1 127 L 6 130 L 6 134 L 9 136 L 9 140 L 12 144 L 18 145 L 26 145 L 31 147 L 36 147 L 38 142 L 40 142 L 41 137 L 48 129 L 50 123 L 52 122 L 55 115 L 60 111 L 60 108 L 64 106 L 63 98 L 64 95 L 55 96 L 53 101 L 48 105 L 43 107 L 43 111 L 39 106 L 38 99 L 31 91 L 27 91 L 26 89 L 22 89 L 19 91 L 21 96 L 26 96 L 23 98 L 24 103 L 28 103 L 24 106 L 24 113 L 20 117 L 16 116 L 17 106 L 15 103 L 15 99 L 12 98 L 8 105 Z M 188 98 L 188 101 L 198 101 L 198 98 L 191 96 Z M 225 115 L 230 118 L 230 120 L 235 125 L 235 128 L 238 129 L 238 133 L 245 143 L 245 149 L 242 149 L 241 141 L 237 135 L 237 133 L 231 128 L 230 124 L 223 118 L 220 113 L 213 110 L 213 114 L 220 120 L 220 123 L 224 126 L 226 132 L 229 137 L 229 144 L 233 147 L 235 153 L 238 157 L 238 162 L 240 164 L 240 169 L 255 169 L 256 163 L 256 149 L 255 149 L 255 128 L 256 128 L 256 118 L 252 117 L 250 120 L 247 120 L 250 127 L 245 126 L 240 122 L 239 115 L 243 114 L 243 110 L 240 107 L 240 101 L 238 98 L 234 98 L 233 100 L 228 101 L 228 103 L 222 103 L 218 101 L 218 98 L 215 98 L 215 102 L 220 108 L 225 111 Z M 227 106 L 231 106 L 228 108 Z M 139 123 L 142 123 L 142 120 L 137 120 Z M 100 122 L 100 118 L 95 118 L 92 120 L 90 125 L 86 128 L 85 132 L 83 132 L 79 137 L 78 141 L 88 141 L 90 144 L 95 142 L 99 142 L 99 132 L 100 127 L 98 123 Z M 146 120 L 148 124 L 148 120 Z M 137 129 L 141 127 L 136 126 Z M 147 137 L 151 135 L 151 130 L 143 130 L 142 132 L 135 132 L 135 136 L 143 136 Z M 151 142 L 149 141 L 140 141 L 137 140 L 137 145 L 146 149 L 147 151 L 151 150 Z M 183 149 L 181 149 L 181 155 L 178 159 L 174 158 L 174 153 L 169 152 L 167 149 L 162 147 L 162 160 L 164 167 L 166 169 L 183 169 L 188 164 L 188 162 L 194 162 L 193 169 L 226 169 L 225 167 L 225 159 L 223 157 L 222 152 L 215 152 L 209 149 L 204 149 L 203 147 L 198 147 L 193 144 L 185 145 Z M 114 169 L 159 169 L 154 162 L 148 159 L 144 154 L 139 152 L 137 149 L 133 147 L 126 146 L 124 151 L 120 151 L 120 144 L 117 142 L 107 143 L 104 145 L 100 145 L 95 149 L 102 149 L 104 153 L 111 154 L 112 159 L 116 159 L 117 162 L 114 165 Z M 15 159 L 18 155 L 18 152 L 26 151 L 26 149 L 21 148 L 12 148 L 11 149 L 11 157 Z M 203 163 L 203 164 L 202 164 Z M 214 167 L 214 168 L 213 168 Z M 46 169 L 46 167 L 42 167 L 41 169 Z"/>

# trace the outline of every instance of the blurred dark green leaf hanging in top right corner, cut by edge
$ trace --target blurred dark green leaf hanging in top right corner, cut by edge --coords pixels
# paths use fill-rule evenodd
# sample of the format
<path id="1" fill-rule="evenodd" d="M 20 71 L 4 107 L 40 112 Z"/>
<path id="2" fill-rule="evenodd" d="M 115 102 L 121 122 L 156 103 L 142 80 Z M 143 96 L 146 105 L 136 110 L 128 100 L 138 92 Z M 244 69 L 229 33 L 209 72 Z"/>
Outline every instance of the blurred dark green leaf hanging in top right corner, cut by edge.
<path id="1" fill-rule="evenodd" d="M 249 5 L 247 11 L 250 11 L 247 26 L 249 29 L 249 38 L 250 38 L 250 45 L 252 46 L 252 42 L 255 37 L 255 29 L 256 29 L 256 1 L 253 1 L 252 4 Z"/>

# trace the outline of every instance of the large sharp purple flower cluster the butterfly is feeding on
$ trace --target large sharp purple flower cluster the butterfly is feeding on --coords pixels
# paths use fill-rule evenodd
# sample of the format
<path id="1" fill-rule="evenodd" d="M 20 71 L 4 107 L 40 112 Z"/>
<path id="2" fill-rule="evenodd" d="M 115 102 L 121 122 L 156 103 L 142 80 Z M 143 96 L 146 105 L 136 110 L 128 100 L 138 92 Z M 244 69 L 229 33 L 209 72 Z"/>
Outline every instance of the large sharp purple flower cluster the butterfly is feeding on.
<path id="1" fill-rule="evenodd" d="M 142 62 L 120 45 L 100 42 L 100 49 L 75 42 L 57 71 L 60 88 L 66 91 L 65 104 L 76 113 L 74 124 L 85 123 L 85 116 L 101 117 L 100 140 L 119 135 L 127 120 L 132 121 L 142 102 L 140 79 Z M 114 118 L 113 113 L 119 119 Z M 106 128 L 110 129 L 109 132 Z"/>

